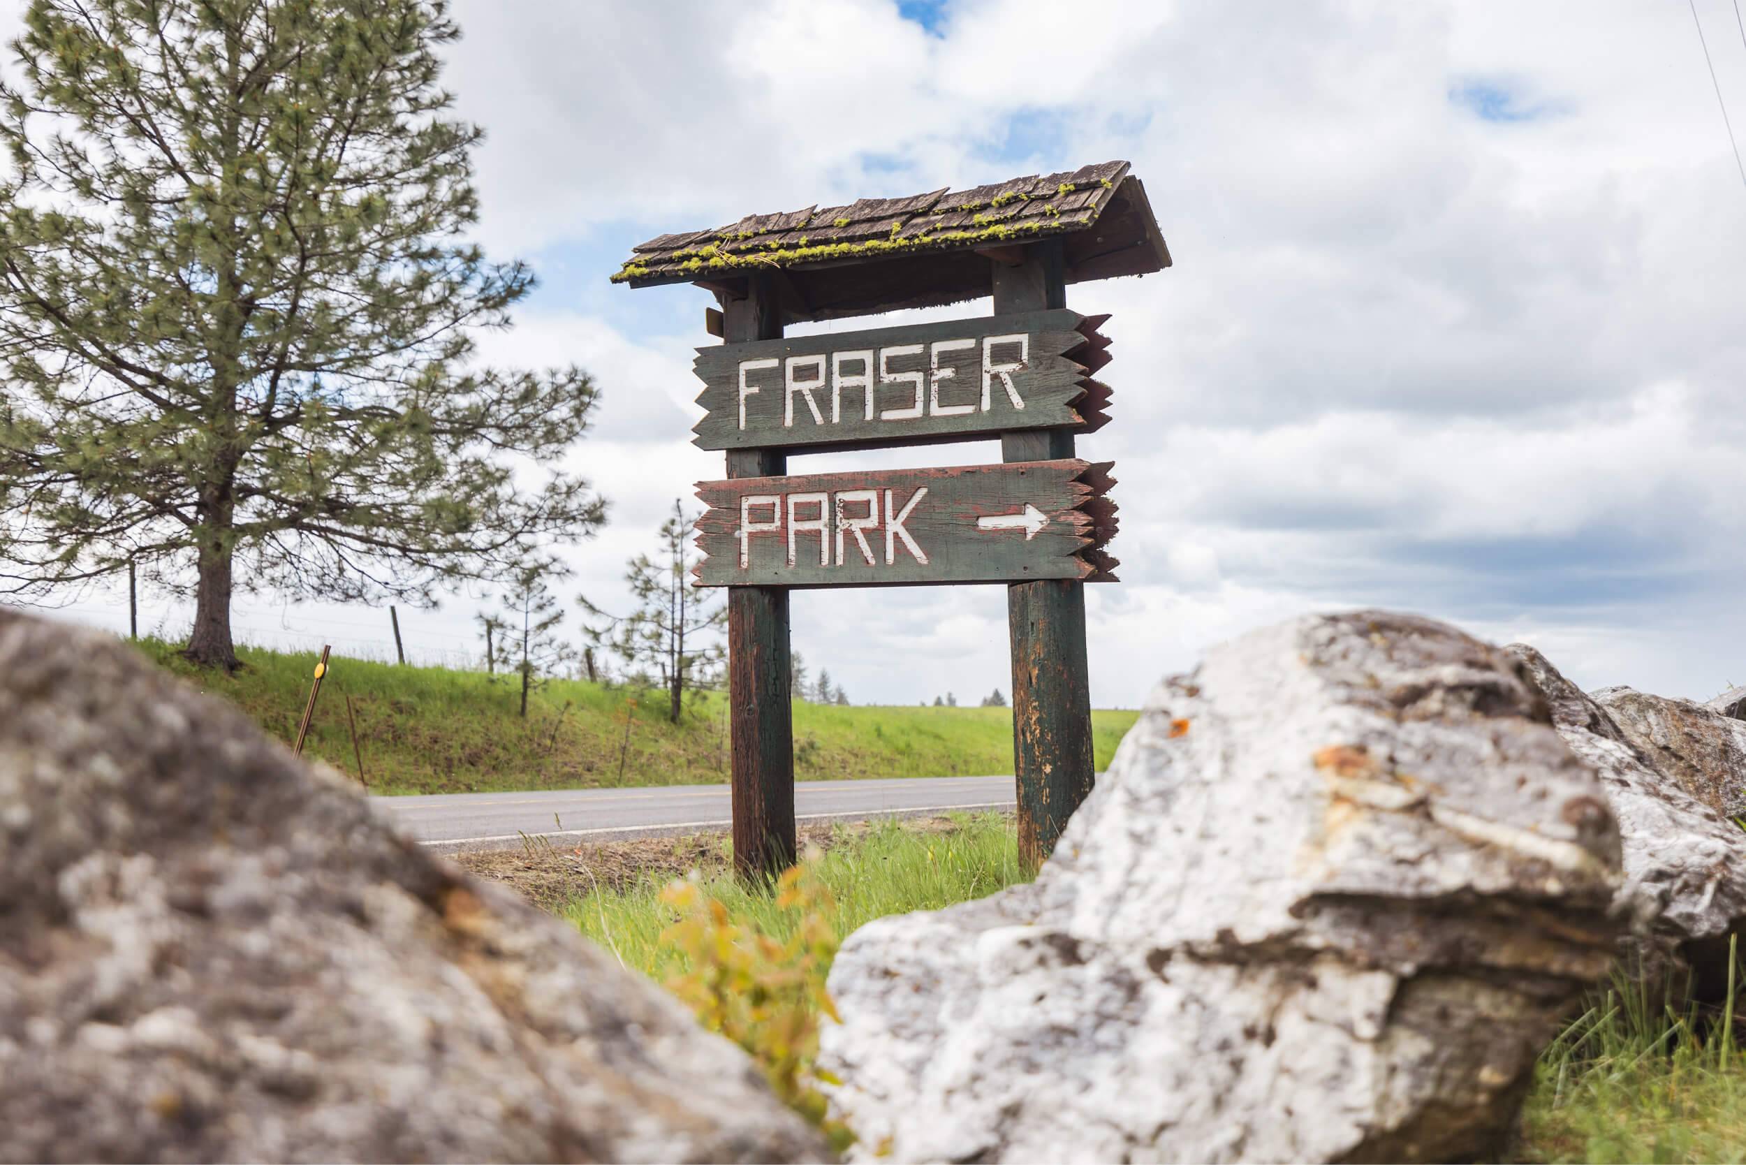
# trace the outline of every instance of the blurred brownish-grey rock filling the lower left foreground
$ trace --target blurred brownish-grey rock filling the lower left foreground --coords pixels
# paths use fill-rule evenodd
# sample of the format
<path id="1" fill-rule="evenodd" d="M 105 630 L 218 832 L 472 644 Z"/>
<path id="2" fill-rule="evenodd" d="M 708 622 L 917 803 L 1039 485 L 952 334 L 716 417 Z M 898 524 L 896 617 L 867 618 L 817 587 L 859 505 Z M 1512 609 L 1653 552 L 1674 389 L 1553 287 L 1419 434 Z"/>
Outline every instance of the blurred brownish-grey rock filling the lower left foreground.
<path id="1" fill-rule="evenodd" d="M 0 611 L 0 1158 L 801 1160 L 751 1062 L 241 714 Z"/>

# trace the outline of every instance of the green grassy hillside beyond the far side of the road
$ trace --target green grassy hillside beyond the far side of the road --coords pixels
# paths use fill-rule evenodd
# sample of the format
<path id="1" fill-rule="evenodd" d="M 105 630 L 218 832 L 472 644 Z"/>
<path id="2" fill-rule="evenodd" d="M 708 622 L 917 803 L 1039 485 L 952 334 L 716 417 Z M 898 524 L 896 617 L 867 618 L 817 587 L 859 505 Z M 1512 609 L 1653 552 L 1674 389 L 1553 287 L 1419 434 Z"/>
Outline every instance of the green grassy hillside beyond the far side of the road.
<path id="1" fill-rule="evenodd" d="M 204 692 L 243 707 L 281 741 L 297 735 L 313 653 L 239 648 L 243 671 L 196 669 L 159 641 L 140 648 Z M 358 776 L 346 697 L 372 793 L 473 793 L 726 781 L 726 699 L 700 693 L 679 725 L 660 692 L 553 679 L 517 716 L 513 678 L 333 657 L 304 751 Z M 1093 713 L 1102 769 L 1138 713 Z M 620 758 L 623 765 L 620 765 Z M 1013 772 L 1004 707 L 833 707 L 794 704 L 801 781 Z"/>

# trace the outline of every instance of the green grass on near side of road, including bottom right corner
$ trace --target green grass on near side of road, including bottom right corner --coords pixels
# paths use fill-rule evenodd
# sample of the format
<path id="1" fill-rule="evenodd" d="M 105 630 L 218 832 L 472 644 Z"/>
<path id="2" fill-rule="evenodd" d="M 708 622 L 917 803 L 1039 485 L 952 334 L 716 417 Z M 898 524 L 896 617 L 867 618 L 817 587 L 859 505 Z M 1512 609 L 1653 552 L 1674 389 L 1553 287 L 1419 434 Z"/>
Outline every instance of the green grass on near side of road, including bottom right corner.
<path id="1" fill-rule="evenodd" d="M 957 823 L 948 835 L 887 823 L 833 845 L 815 868 L 838 903 L 838 933 L 1023 880 L 1009 819 Z M 595 891 L 560 913 L 625 966 L 669 982 L 690 968 L 660 943 L 676 917 L 660 903 L 663 880 Z M 794 912 L 779 908 L 768 891 L 746 889 L 725 873 L 704 880 L 702 891 L 747 931 L 779 943 L 796 931 Z M 808 973 L 822 987 L 828 971 L 821 962 Z M 1732 1008 L 1674 1013 L 1617 978 L 1540 1057 L 1509 1160 L 1746 1162 L 1746 1060 L 1737 1034 Z"/>

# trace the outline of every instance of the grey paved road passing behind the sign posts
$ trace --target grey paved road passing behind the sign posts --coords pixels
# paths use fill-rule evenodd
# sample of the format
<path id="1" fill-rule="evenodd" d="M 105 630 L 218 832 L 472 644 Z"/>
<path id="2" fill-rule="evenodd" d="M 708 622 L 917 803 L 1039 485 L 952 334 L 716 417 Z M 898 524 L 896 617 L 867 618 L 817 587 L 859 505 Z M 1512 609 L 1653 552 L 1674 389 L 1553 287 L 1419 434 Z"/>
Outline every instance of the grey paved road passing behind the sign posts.
<path id="1" fill-rule="evenodd" d="M 372 796 L 370 803 L 419 844 L 442 852 L 515 847 L 522 833 L 553 842 L 602 842 L 725 830 L 733 819 L 725 784 Z M 1011 807 L 1013 777 L 801 781 L 794 786 L 794 816 L 803 823 Z"/>

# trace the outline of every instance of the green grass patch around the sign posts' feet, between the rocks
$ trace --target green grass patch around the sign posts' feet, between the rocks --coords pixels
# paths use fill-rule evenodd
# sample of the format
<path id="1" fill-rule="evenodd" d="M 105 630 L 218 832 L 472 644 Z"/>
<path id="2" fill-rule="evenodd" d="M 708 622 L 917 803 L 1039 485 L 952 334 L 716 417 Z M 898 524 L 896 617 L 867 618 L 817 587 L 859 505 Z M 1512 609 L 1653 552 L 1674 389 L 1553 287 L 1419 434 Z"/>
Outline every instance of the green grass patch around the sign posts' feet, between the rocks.
<path id="1" fill-rule="evenodd" d="M 939 910 L 1028 879 L 1018 863 L 1013 823 L 1002 814 L 957 814 L 955 828 L 922 833 L 896 821 L 878 823 L 852 840 L 831 845 L 814 870 L 836 900 L 836 929 L 849 934 L 887 913 Z M 838 826 L 840 837 L 849 837 Z M 723 840 L 726 845 L 726 840 Z M 618 955 L 620 962 L 656 982 L 684 969 L 684 961 L 660 945 L 674 913 L 660 903 L 665 879 L 646 877 L 623 891 L 599 889 L 573 900 L 560 913 Z M 704 884 L 737 922 L 787 941 L 798 919 L 763 889 L 721 873 Z"/>

